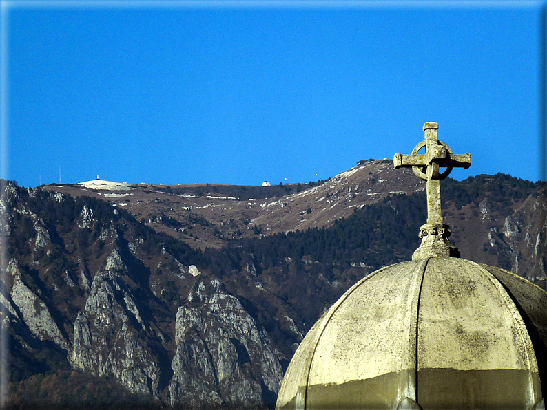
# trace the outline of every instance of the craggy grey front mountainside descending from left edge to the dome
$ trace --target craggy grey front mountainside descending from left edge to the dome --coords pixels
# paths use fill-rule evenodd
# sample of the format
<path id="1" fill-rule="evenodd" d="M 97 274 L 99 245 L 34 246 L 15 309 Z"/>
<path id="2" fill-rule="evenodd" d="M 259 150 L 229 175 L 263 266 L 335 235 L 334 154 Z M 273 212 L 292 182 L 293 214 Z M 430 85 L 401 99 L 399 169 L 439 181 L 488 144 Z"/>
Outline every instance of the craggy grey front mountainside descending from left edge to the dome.
<path id="1" fill-rule="evenodd" d="M 37 358 L 47 345 L 62 369 L 112 380 L 154 406 L 273 406 L 287 358 L 219 279 L 147 241 L 152 231 L 111 206 L 12 185 L 7 193 L 3 228 L 17 258 L 0 283 L 0 321 L 12 373 L 54 371 Z M 70 206 L 74 217 L 62 227 L 42 219 L 48 206 Z M 15 402 L 52 404 L 25 396 Z"/>

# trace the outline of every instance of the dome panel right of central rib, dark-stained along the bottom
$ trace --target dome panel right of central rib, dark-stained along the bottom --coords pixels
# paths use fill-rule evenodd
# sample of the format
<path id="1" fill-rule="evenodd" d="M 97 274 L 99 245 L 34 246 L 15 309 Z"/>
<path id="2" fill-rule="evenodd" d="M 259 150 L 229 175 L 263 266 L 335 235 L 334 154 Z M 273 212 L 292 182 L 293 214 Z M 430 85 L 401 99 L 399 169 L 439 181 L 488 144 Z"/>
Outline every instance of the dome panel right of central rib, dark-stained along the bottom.
<path id="1" fill-rule="evenodd" d="M 431 259 L 418 339 L 417 402 L 424 409 L 446 407 L 446 400 L 453 408 L 530 409 L 541 398 L 524 319 L 502 283 L 477 263 Z"/>

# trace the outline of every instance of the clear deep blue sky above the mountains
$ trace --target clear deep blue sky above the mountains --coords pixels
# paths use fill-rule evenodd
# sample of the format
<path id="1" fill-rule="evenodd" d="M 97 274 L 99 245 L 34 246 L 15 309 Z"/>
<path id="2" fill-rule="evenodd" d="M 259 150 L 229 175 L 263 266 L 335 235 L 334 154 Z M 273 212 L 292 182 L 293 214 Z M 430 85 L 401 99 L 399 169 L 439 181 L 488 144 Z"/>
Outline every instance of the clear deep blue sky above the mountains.
<path id="1" fill-rule="evenodd" d="M 451 176 L 538 180 L 540 6 L 3 2 L 4 177 L 309 182 L 435 121 Z"/>

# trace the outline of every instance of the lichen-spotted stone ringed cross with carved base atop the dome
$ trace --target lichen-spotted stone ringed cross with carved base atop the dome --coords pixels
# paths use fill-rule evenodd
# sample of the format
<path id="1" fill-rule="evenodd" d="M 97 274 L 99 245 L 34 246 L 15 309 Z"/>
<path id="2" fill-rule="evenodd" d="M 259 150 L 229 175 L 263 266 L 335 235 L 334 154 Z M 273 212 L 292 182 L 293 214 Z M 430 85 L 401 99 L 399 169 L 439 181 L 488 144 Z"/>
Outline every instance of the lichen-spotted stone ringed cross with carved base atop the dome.
<path id="1" fill-rule="evenodd" d="M 422 244 L 415 250 L 412 259 L 426 257 L 460 257 L 460 252 L 448 239 L 451 235 L 448 225 L 442 222 L 440 181 L 444 180 L 455 167 L 469 168 L 471 154 L 455 155 L 444 142 L 437 139 L 437 122 L 424 124 L 424 140 L 417 144 L 411 155 L 396 153 L 393 158 L 395 169 L 411 167 L 413 173 L 426 181 L 427 223 L 420 228 Z M 425 153 L 418 151 L 425 147 Z M 440 168 L 446 167 L 444 172 Z"/>

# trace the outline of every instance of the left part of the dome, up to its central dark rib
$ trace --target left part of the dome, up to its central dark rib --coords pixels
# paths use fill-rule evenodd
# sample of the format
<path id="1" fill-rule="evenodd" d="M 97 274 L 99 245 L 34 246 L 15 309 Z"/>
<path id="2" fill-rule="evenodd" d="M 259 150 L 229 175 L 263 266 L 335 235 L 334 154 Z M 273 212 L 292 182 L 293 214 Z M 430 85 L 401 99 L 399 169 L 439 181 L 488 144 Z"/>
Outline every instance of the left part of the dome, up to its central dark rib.
<path id="1" fill-rule="evenodd" d="M 322 386 L 346 391 L 341 400 L 349 400 L 355 389 L 373 391 L 373 400 L 380 406 L 389 402 L 390 407 L 396 407 L 405 398 L 415 400 L 417 304 L 427 263 L 428 259 L 422 259 L 391 265 L 350 288 L 298 347 L 279 392 L 278 407 L 320 406 L 322 400 L 330 400 L 322 393 L 318 395 Z M 353 346 L 361 353 L 337 354 L 345 352 L 338 349 L 342 345 Z M 367 360 L 361 354 L 375 364 L 364 365 Z M 360 376 L 347 377 L 355 374 Z M 391 380 L 389 394 L 381 381 L 385 378 Z"/>

